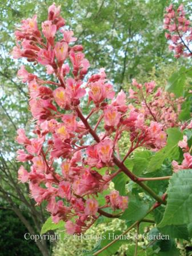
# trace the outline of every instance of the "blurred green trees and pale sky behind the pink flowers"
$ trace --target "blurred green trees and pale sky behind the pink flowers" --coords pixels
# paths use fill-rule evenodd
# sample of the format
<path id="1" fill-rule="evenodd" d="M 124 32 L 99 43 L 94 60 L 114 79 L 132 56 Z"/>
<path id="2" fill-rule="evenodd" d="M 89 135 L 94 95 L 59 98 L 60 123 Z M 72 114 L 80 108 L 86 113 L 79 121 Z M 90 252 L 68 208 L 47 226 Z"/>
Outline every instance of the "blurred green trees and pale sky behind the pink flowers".
<path id="1" fill-rule="evenodd" d="M 167 80 L 190 60 L 175 59 L 163 30 L 163 14 L 170 3 L 183 3 L 191 13 L 190 1 L 168 0 L 66 0 L 54 1 L 61 5 L 66 28 L 74 30 L 77 44 L 85 47 L 90 61 L 90 73 L 104 67 L 115 90 L 129 90 L 131 79 L 145 83 L 155 80 L 166 86 Z M 23 234 L 39 234 L 42 224 L 49 217 L 45 207 L 35 207 L 29 198 L 26 184 L 18 184 L 15 161 L 18 149 L 15 142 L 19 127 L 30 130 L 31 115 L 28 111 L 27 86 L 17 79 L 22 60 L 13 60 L 11 48 L 15 45 L 14 29 L 21 20 L 38 15 L 38 22 L 47 20 L 48 0 L 0 1 L 0 256 L 14 255 L 85 255 L 94 241 L 49 242 L 26 241 Z M 24 63 L 25 64 L 25 63 Z M 27 64 L 29 65 L 29 64 Z M 32 66 L 31 72 L 37 72 Z M 40 70 L 41 72 L 41 70 Z M 118 220 L 102 224 L 99 228 L 117 229 Z M 94 229 L 93 228 L 93 229 Z M 92 230 L 90 232 L 95 232 Z M 184 249 L 181 246 L 181 251 Z M 88 255 L 88 254 L 87 254 Z M 123 249 L 118 254 L 125 255 Z M 171 256 L 171 255 L 170 255 Z"/>

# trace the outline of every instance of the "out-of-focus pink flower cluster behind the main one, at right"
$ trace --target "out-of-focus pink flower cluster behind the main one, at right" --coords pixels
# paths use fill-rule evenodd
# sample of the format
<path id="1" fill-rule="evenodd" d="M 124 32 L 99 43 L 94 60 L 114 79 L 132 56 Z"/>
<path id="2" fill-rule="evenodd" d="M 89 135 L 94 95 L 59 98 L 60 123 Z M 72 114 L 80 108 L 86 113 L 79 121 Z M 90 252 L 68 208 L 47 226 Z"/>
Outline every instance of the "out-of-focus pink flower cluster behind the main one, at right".
<path id="1" fill-rule="evenodd" d="M 161 87 L 157 88 L 154 81 L 142 85 L 133 79 L 132 86 L 133 88 L 129 89 L 129 99 L 132 103 L 128 105 L 131 113 L 139 113 L 140 122 L 150 120 L 150 133 L 159 135 L 156 139 L 157 144 L 162 141 L 162 145 L 165 145 L 163 130 L 181 125 L 178 116 L 184 98 L 176 98 L 173 93 L 164 91 Z"/>

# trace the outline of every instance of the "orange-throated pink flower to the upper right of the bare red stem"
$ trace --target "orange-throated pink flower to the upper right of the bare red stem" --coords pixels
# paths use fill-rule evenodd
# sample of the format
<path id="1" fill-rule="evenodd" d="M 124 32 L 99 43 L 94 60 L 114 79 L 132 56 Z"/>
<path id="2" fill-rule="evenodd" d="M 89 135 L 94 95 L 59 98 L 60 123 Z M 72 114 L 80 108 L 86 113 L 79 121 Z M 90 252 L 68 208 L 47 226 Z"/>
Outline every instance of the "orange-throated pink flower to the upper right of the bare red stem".
<path id="1" fill-rule="evenodd" d="M 112 105 L 108 105 L 104 110 L 104 121 L 107 126 L 117 126 L 121 118 L 121 114 Z"/>

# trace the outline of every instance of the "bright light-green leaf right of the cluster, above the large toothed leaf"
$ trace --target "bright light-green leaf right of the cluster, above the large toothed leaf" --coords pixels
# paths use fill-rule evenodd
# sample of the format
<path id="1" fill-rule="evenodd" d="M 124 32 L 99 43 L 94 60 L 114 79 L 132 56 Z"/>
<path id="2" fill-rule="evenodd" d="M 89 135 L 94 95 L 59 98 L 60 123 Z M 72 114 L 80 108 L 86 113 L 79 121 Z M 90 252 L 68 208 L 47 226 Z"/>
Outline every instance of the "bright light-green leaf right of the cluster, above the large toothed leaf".
<path id="1" fill-rule="evenodd" d="M 169 128 L 166 132 L 168 134 L 167 145 L 151 157 L 147 168 L 148 172 L 154 172 L 154 170 L 161 168 L 165 158 L 177 160 L 179 157 L 178 142 L 182 139 L 181 131 L 177 128 Z"/>

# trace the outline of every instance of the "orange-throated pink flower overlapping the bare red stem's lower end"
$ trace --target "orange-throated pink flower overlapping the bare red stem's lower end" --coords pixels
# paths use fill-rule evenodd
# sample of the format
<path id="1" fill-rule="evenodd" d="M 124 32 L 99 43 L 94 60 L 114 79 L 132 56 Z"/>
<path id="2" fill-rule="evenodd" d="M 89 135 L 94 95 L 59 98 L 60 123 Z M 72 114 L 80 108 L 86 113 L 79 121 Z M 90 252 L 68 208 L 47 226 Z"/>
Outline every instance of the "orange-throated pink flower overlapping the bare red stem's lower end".
<path id="1" fill-rule="evenodd" d="M 99 142 L 97 145 L 97 151 L 99 159 L 102 162 L 109 163 L 113 154 L 113 141 L 106 138 L 104 141 Z"/>

